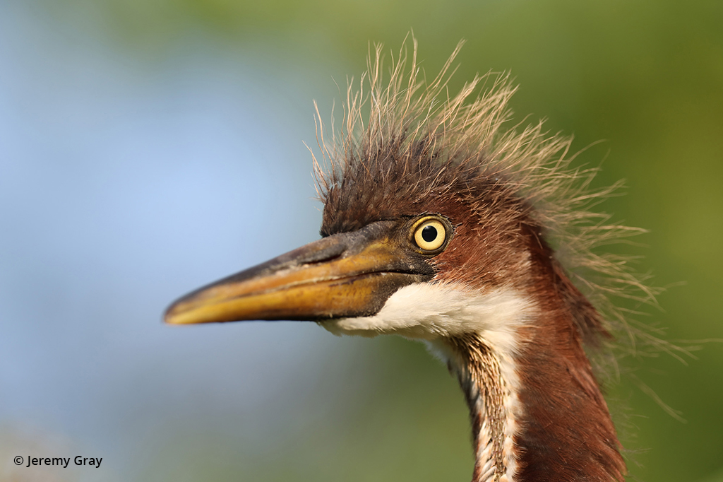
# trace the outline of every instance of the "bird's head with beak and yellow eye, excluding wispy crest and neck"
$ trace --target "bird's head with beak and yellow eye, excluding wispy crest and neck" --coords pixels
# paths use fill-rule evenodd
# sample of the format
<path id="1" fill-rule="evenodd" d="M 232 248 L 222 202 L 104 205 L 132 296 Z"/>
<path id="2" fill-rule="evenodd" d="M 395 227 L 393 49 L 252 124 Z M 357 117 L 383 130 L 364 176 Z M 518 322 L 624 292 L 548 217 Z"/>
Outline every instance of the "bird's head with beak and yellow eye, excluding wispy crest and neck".
<path id="1" fill-rule="evenodd" d="M 320 240 L 181 298 L 166 321 L 312 320 L 337 334 L 433 340 L 474 329 L 464 322 L 479 313 L 461 310 L 476 297 L 526 308 L 527 245 L 541 229 L 529 208 L 499 173 L 429 164 L 357 164 L 359 182 L 327 193 Z"/>

